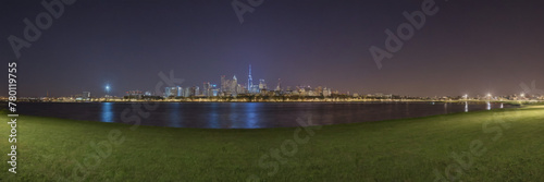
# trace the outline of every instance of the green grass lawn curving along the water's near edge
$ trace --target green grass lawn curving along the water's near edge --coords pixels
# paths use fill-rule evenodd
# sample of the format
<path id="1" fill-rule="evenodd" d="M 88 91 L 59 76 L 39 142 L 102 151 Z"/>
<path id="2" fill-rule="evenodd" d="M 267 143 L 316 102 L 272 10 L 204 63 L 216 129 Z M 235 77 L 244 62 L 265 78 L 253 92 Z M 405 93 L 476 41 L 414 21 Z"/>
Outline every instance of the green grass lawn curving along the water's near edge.
<path id="1" fill-rule="evenodd" d="M 16 174 L 2 119 L 1 181 L 544 181 L 544 106 L 306 129 L 312 136 L 22 116 Z"/>

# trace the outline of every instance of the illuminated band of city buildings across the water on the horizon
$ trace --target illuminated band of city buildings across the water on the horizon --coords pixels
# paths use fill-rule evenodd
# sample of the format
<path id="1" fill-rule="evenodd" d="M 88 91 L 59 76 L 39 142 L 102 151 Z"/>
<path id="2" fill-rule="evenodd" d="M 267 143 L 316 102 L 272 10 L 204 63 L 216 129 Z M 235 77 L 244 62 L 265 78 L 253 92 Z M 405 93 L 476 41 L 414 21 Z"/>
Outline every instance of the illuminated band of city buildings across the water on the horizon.
<path id="1" fill-rule="evenodd" d="M 172 73 L 174 73 L 174 72 L 172 72 Z M 329 95 L 331 93 L 336 93 L 336 94 L 341 94 L 341 95 L 349 95 L 349 96 L 351 96 L 353 94 L 357 94 L 357 95 L 376 95 L 378 94 L 378 95 L 396 95 L 396 96 L 421 97 L 421 98 L 425 98 L 425 97 L 428 97 L 428 98 L 433 98 L 433 97 L 435 97 L 435 98 L 440 98 L 440 97 L 468 97 L 469 96 L 469 94 L 467 94 L 467 93 L 458 94 L 458 95 L 412 96 L 412 95 L 403 95 L 403 94 L 398 94 L 398 93 L 364 92 L 362 89 L 361 90 L 339 92 L 338 89 L 323 86 L 326 84 L 318 84 L 314 86 L 298 84 L 298 85 L 288 85 L 288 86 L 282 87 L 281 86 L 281 83 L 282 83 L 281 78 L 279 78 L 276 81 L 277 83 L 276 83 L 276 86 L 274 87 L 271 84 L 267 84 L 265 80 L 263 80 L 263 78 L 258 78 L 258 83 L 254 84 L 251 64 L 248 65 L 247 73 L 248 73 L 247 74 L 247 83 L 237 82 L 236 74 L 232 74 L 232 76 L 233 76 L 232 80 L 228 80 L 226 77 L 226 75 L 220 75 L 219 81 L 205 81 L 205 82 L 202 82 L 202 85 L 186 84 L 186 83 L 195 83 L 195 82 L 198 83 L 199 81 L 188 81 L 187 82 L 187 81 L 182 78 L 183 83 L 175 84 L 175 86 L 163 86 L 163 87 L 161 87 L 162 89 L 159 89 L 160 93 L 157 93 L 157 89 L 143 89 L 144 87 L 149 87 L 149 86 L 140 86 L 138 88 L 128 88 L 128 89 L 115 92 L 114 90 L 115 86 L 108 82 L 108 83 L 103 84 L 103 89 L 101 92 L 99 89 L 98 89 L 98 92 L 88 92 L 89 89 L 87 89 L 87 90 L 79 90 L 79 94 L 83 92 L 84 98 L 85 97 L 86 98 L 91 98 L 91 97 L 99 98 L 99 97 L 103 97 L 103 96 L 123 97 L 123 96 L 127 96 L 127 95 L 134 95 L 135 93 L 138 93 L 136 95 L 164 96 L 164 97 L 169 97 L 169 96 L 177 96 L 177 97 L 180 97 L 180 96 L 182 96 L 182 97 L 226 96 L 226 97 L 230 97 L 230 96 L 236 96 L 238 94 L 259 94 L 262 89 L 269 90 L 269 92 L 282 92 L 283 93 L 286 90 L 289 90 L 289 92 L 297 90 L 299 88 L 311 88 L 313 90 L 313 89 L 317 89 L 318 87 L 321 87 L 321 88 L 324 87 L 325 89 L 329 89 Z M 175 77 L 175 78 L 178 78 L 178 77 Z M 236 82 L 234 82 L 233 86 L 231 86 L 232 81 L 236 81 Z M 264 85 L 262 85 L 262 84 L 264 84 Z M 523 84 L 526 84 L 526 83 L 521 83 L 520 86 Z M 542 90 L 535 87 L 534 81 L 532 84 L 533 84 L 532 86 L 534 88 L 523 88 L 521 86 L 521 87 L 519 87 L 520 92 L 518 92 L 518 93 L 507 93 L 507 94 L 500 95 L 500 94 L 495 94 L 492 92 L 482 92 L 482 93 L 472 93 L 470 95 L 470 97 L 472 97 L 472 98 L 491 97 L 490 95 L 493 95 L 493 96 L 523 96 L 524 94 L 528 94 L 528 95 L 535 94 L 536 96 L 541 96 Z M 200 86 L 202 88 L 201 90 L 200 90 Z M 527 84 L 526 84 L 526 86 L 527 86 Z M 210 89 L 207 89 L 207 87 Z M 174 90 L 174 88 L 175 88 L 176 93 L 171 93 Z M 183 88 L 183 89 L 178 90 L 178 88 Z M 113 89 L 113 92 L 112 92 L 112 89 Z M 196 89 L 196 92 L 195 92 L 195 89 Z M 211 92 L 211 89 L 217 89 L 217 90 L 214 92 L 214 94 L 210 94 L 209 92 Z M 531 89 L 534 89 L 534 90 L 531 90 Z M 92 90 L 97 90 L 97 88 L 92 88 Z M 237 90 L 237 92 L 233 93 L 233 90 Z M 90 93 L 92 93 L 92 96 L 90 95 Z M 186 94 L 186 93 L 191 93 L 191 94 Z M 77 92 L 76 92 L 76 93 L 72 93 L 69 95 L 50 95 L 49 90 L 47 90 L 45 96 L 23 96 L 23 97 L 73 97 L 73 96 L 77 96 L 79 94 L 77 94 Z M 85 95 L 88 95 L 88 96 L 85 96 Z"/>

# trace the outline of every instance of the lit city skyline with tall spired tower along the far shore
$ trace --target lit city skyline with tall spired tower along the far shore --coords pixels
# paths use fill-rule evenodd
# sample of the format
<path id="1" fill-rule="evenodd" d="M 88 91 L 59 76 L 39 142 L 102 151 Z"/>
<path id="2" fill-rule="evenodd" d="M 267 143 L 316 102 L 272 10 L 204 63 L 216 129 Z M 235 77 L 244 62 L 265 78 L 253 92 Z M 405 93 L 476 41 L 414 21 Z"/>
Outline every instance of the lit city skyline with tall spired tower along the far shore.
<path id="1" fill-rule="evenodd" d="M 211 82 L 203 82 L 202 83 L 202 89 L 200 89 L 200 85 L 188 85 L 184 84 L 183 82 L 175 84 L 175 86 L 163 86 L 157 89 L 158 87 L 154 87 L 154 90 L 146 90 L 146 89 L 139 89 L 139 88 L 131 88 L 124 92 L 118 92 L 118 93 L 124 93 L 121 95 L 114 95 L 111 94 L 112 85 L 107 83 L 103 87 L 103 92 L 100 93 L 98 92 L 97 94 L 90 94 L 90 92 L 83 90 L 83 95 L 79 94 L 71 94 L 71 95 L 64 95 L 64 96 L 50 96 L 49 92 L 47 93 L 47 97 L 81 97 L 83 99 L 88 99 L 88 98 L 104 98 L 104 97 L 123 97 L 123 96 L 160 96 L 164 98 L 169 97 L 194 97 L 194 96 L 199 96 L 199 97 L 236 97 L 237 95 L 270 95 L 270 93 L 275 93 L 276 95 L 285 95 L 285 96 L 294 96 L 293 93 L 296 93 L 296 96 L 324 96 L 324 97 L 330 97 L 331 94 L 333 95 L 346 95 L 346 96 L 353 96 L 353 97 L 359 97 L 359 96 L 370 96 L 370 97 L 382 97 L 382 96 L 399 96 L 399 97 L 413 97 L 413 98 L 460 98 L 460 99 L 469 99 L 469 98 L 474 98 L 474 99 L 481 99 L 481 98 L 503 98 L 503 97 L 508 97 L 508 98 L 528 98 L 530 97 L 542 97 L 544 96 L 544 90 L 536 88 L 535 82 L 533 81 L 531 84 L 532 87 L 527 85 L 526 83 L 521 83 L 520 89 L 521 92 L 519 93 L 509 93 L 505 95 L 498 95 L 495 93 L 474 93 L 473 95 L 469 94 L 459 94 L 459 95 L 435 95 L 433 96 L 410 96 L 410 95 L 401 95 L 401 94 L 395 94 L 395 93 L 381 93 L 381 92 L 374 92 L 374 93 L 367 93 L 367 92 L 351 92 L 347 90 L 345 93 L 338 92 L 337 89 L 331 88 L 331 87 L 323 87 L 322 85 L 317 85 L 317 86 L 311 86 L 311 85 L 294 85 L 294 86 L 285 86 L 282 87 L 281 83 L 282 80 L 277 80 L 277 84 L 275 87 L 273 86 L 268 86 L 265 81 L 263 78 L 259 78 L 258 84 L 252 83 L 252 75 L 251 75 L 251 64 L 248 66 L 248 76 L 247 76 L 247 83 L 238 83 L 236 74 L 233 74 L 233 78 L 228 80 L 226 75 L 221 75 L 219 83 L 215 83 L 213 81 Z M 218 86 L 219 85 L 219 86 Z M 163 89 L 161 89 L 163 88 Z M 314 92 L 313 94 L 306 93 L 306 95 L 299 95 L 299 90 L 311 90 Z M 263 93 L 264 92 L 264 93 Z M 268 93 L 268 94 L 267 94 Z M 327 94 L 326 94 L 327 93 Z M 32 97 L 30 97 L 32 98 Z"/>

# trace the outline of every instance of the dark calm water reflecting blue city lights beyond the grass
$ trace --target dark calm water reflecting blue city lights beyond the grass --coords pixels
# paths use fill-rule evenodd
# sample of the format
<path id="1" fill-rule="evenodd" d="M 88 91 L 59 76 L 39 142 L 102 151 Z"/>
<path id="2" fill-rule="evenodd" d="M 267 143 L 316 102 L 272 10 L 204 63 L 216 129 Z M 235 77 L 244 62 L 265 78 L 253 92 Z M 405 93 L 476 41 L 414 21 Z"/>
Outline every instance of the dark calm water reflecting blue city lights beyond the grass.
<path id="1" fill-rule="evenodd" d="M 454 112 L 490 110 L 510 107 L 502 104 L 332 104 L 332 102 L 26 102 L 20 104 L 22 114 L 55 117 L 75 120 L 119 122 L 140 120 L 143 125 L 209 129 L 259 129 L 298 126 L 297 118 L 313 124 L 336 124 L 415 118 Z M 139 113 L 137 109 L 139 108 Z M 152 108 L 151 108 L 152 109 Z M 133 123 L 133 122 L 127 122 Z"/>

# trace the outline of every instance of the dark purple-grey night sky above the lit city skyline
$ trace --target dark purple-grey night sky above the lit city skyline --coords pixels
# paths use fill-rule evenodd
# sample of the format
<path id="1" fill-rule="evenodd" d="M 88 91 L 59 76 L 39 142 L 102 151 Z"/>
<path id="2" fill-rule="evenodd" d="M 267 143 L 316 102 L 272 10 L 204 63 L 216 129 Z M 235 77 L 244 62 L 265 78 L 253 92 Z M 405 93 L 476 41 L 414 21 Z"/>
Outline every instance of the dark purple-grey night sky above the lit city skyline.
<path id="1" fill-rule="evenodd" d="M 50 1 L 50 0 L 47 0 Z M 246 0 L 239 0 L 248 4 Z M 544 86 L 544 11 L 540 1 L 437 0 L 403 48 L 379 69 L 369 48 L 384 49 L 386 28 L 423 0 L 264 0 L 240 24 L 230 0 L 78 0 L 21 49 L 18 96 L 104 95 L 153 90 L 159 72 L 181 86 L 220 84 L 236 75 L 275 87 L 311 85 L 345 93 L 412 96 L 517 94 Z M 16 60 L 8 37 L 23 38 L 41 1 L 0 2 L 0 53 Z M 7 63 L 3 66 L 7 73 Z M 541 86 L 542 85 L 542 86 Z M 8 83 L 0 84 L 8 95 Z"/>

